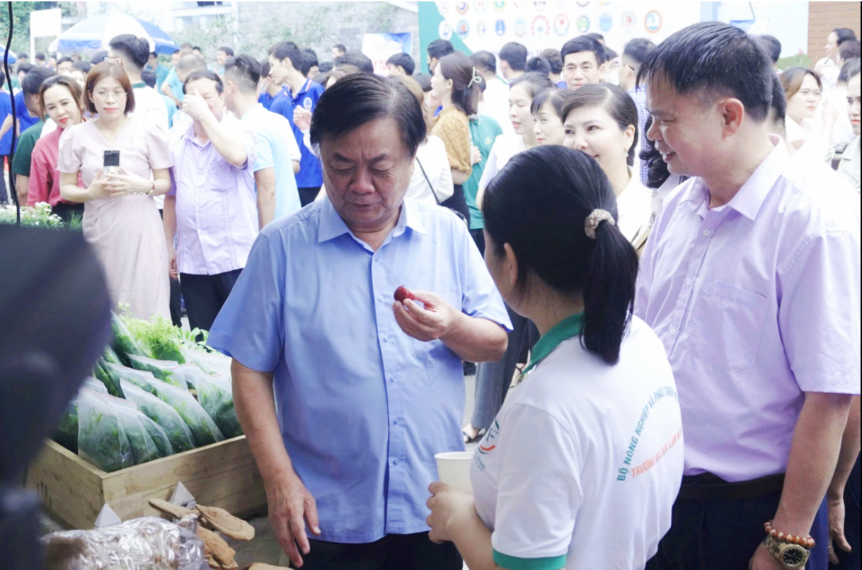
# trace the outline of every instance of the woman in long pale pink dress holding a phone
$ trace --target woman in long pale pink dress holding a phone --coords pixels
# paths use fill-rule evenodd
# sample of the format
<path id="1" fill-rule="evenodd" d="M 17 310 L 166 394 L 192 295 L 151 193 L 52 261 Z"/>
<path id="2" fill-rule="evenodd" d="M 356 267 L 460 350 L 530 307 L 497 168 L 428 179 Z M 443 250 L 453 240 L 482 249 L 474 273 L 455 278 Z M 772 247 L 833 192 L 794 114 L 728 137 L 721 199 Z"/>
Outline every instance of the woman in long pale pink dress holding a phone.
<path id="1" fill-rule="evenodd" d="M 98 118 L 60 137 L 60 194 L 84 202 L 84 238 L 102 261 L 113 302 L 128 304 L 139 319 L 170 320 L 165 231 L 153 201 L 171 188 L 166 133 L 129 116 L 134 92 L 120 65 L 93 67 L 85 91 Z M 118 173 L 103 171 L 105 151 L 120 152 Z"/>

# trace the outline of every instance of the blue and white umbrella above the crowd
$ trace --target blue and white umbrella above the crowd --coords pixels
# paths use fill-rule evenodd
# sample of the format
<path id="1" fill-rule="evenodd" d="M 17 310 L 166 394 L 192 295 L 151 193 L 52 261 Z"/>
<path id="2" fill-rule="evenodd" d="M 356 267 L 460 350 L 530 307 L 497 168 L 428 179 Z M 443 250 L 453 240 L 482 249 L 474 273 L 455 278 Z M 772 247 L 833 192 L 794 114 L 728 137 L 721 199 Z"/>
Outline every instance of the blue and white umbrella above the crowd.
<path id="1" fill-rule="evenodd" d="M 171 36 L 150 22 L 130 15 L 94 15 L 60 34 L 48 47 L 50 52 L 93 54 L 108 49 L 109 41 L 120 34 L 134 34 L 150 42 L 150 51 L 173 53 L 179 49 Z"/>

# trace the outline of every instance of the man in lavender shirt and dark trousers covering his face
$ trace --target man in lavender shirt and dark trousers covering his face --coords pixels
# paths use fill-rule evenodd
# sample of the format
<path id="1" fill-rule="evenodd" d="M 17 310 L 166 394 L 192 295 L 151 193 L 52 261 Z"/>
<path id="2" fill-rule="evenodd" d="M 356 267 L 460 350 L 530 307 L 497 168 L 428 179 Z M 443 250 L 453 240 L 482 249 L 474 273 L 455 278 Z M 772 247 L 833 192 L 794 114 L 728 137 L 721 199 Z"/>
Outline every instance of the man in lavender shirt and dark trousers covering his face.
<path id="1" fill-rule="evenodd" d="M 209 331 L 258 235 L 255 148 L 225 111 L 222 78 L 214 71 L 194 71 L 183 89 L 182 108 L 193 123 L 172 146 L 165 237 L 189 325 Z"/>

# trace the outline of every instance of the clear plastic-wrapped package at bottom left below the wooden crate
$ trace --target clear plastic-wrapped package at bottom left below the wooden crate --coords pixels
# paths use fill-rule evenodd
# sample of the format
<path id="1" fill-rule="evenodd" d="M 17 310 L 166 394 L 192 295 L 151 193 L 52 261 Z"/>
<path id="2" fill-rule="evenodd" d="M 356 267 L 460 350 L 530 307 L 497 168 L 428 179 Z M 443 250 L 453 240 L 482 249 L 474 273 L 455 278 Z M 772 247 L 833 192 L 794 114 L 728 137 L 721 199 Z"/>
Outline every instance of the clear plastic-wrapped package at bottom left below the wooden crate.
<path id="1" fill-rule="evenodd" d="M 197 517 L 179 524 L 164 518 L 134 518 L 95 530 L 54 532 L 43 538 L 49 553 L 57 545 L 77 542 L 65 567 L 87 570 L 200 570 L 205 564 L 203 541 L 195 534 Z"/>

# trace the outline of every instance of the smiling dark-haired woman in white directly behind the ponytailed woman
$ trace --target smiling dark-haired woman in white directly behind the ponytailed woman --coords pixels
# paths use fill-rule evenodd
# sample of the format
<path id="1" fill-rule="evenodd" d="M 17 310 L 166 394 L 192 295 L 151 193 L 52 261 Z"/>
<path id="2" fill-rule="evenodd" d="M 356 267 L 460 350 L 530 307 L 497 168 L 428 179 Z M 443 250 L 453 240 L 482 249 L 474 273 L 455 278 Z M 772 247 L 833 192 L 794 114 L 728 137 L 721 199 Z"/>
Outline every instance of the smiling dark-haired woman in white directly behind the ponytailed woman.
<path id="1" fill-rule="evenodd" d="M 648 226 L 653 191 L 634 172 L 638 108 L 616 85 L 584 85 L 563 104 L 564 146 L 595 158 L 616 194 L 617 224 L 628 241 Z"/>

